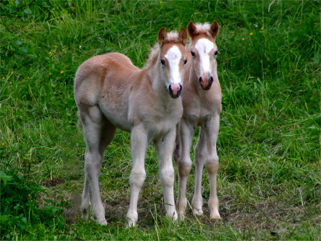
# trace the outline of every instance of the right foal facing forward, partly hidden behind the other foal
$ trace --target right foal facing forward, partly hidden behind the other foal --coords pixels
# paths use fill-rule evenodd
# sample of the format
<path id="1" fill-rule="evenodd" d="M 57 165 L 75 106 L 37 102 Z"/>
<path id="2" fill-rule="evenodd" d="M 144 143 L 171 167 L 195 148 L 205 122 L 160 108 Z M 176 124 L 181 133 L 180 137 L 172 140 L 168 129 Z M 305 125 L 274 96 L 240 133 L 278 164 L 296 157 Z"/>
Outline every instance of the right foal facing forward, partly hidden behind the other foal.
<path id="1" fill-rule="evenodd" d="M 201 193 L 203 166 L 209 175 L 210 198 L 208 206 L 211 219 L 220 219 L 219 202 L 216 194 L 216 175 L 219 159 L 216 153 L 216 140 L 221 113 L 221 87 L 217 76 L 216 56 L 218 54 L 215 37 L 219 31 L 216 21 L 210 24 L 188 24 L 192 39 L 188 50 L 191 61 L 185 68 L 184 91 L 182 93 L 183 117 L 179 121 L 174 160 L 178 166 L 177 206 L 181 218 L 187 207 L 186 183 L 191 170 L 190 150 L 197 126 L 200 126 L 199 139 L 195 147 L 195 192 L 192 200 L 193 212 L 203 215 Z"/>

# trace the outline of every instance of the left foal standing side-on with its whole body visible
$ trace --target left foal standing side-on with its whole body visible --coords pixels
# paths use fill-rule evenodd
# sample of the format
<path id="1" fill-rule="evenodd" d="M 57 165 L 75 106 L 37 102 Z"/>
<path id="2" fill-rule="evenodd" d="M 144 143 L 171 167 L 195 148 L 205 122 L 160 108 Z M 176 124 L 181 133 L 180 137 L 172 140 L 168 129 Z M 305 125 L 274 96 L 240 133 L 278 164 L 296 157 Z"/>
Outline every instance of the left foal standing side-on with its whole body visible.
<path id="1" fill-rule="evenodd" d="M 174 203 L 174 169 L 172 152 L 175 128 L 182 116 L 184 66 L 187 62 L 187 31 L 158 33 L 158 47 L 152 50 L 144 69 L 135 67 L 120 53 L 92 57 L 77 70 L 74 98 L 86 141 L 85 183 L 82 213 L 107 224 L 101 202 L 98 176 L 106 147 L 116 129 L 131 132 L 133 168 L 129 177 L 130 204 L 126 215 L 128 226 L 138 220 L 137 201 L 146 177 L 144 168 L 148 145 L 157 148 L 160 180 L 166 216 L 178 218 Z"/>

